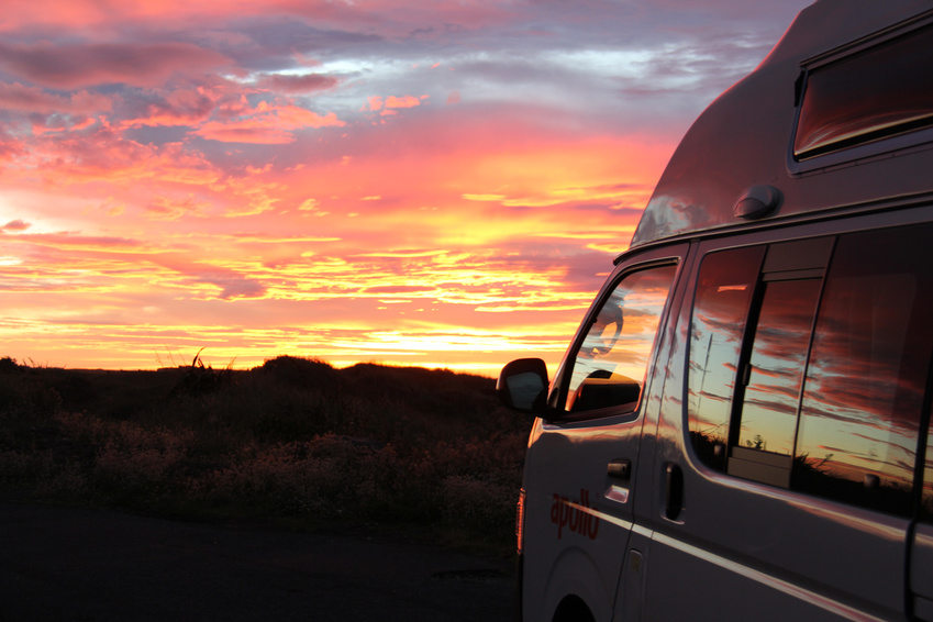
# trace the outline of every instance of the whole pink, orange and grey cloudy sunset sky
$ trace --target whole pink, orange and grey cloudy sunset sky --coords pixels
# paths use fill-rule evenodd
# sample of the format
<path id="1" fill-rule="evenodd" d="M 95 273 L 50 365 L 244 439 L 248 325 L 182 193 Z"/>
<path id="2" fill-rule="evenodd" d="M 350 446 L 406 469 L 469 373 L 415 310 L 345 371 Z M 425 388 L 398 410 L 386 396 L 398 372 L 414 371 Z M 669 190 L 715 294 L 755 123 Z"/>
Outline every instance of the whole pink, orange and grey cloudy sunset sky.
<path id="1" fill-rule="evenodd" d="M 555 365 L 811 0 L 13 0 L 0 356 Z"/>

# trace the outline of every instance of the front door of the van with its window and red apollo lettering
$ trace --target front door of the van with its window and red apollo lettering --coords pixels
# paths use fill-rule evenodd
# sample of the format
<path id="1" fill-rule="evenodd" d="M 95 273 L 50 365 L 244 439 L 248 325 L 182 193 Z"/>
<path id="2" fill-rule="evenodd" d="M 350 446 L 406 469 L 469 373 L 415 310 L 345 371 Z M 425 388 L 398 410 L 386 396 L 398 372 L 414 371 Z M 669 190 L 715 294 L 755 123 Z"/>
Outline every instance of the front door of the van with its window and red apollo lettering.
<path id="1" fill-rule="evenodd" d="M 552 384 L 525 458 L 526 620 L 612 611 L 632 527 L 646 370 L 686 245 L 621 264 Z"/>

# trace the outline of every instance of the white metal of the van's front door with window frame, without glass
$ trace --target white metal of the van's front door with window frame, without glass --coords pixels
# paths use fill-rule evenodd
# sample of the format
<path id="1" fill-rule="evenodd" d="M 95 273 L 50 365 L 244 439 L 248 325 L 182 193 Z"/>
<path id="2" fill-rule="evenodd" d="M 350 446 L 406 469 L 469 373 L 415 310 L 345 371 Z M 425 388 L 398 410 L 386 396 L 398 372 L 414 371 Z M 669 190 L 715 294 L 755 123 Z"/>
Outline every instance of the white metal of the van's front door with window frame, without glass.
<path id="1" fill-rule="evenodd" d="M 662 270 L 674 275 L 669 281 L 673 291 L 686 251 L 686 244 L 648 249 L 617 266 L 581 323 L 562 371 L 552 384 L 548 401 L 568 399 L 566 387 L 573 381 L 575 362 L 579 366 L 586 336 L 613 292 L 632 278 Z M 630 301 L 634 302 L 637 293 L 630 291 Z M 659 299 L 662 324 L 669 300 L 667 292 Z M 637 319 L 632 311 L 630 322 Z M 657 369 L 651 365 L 653 343 L 647 346 L 649 359 L 644 365 Z M 635 408 L 598 410 L 599 416 L 580 422 L 536 422 L 526 456 L 526 465 L 534 468 L 526 467 L 524 482 L 527 492 L 522 608 L 526 619 L 549 620 L 567 595 L 582 598 L 597 620 L 612 615 L 625 565 L 624 554 L 619 552 L 626 551 L 638 497 L 636 488 L 642 481 L 640 445 L 653 381 L 654 378 L 645 378 Z"/>

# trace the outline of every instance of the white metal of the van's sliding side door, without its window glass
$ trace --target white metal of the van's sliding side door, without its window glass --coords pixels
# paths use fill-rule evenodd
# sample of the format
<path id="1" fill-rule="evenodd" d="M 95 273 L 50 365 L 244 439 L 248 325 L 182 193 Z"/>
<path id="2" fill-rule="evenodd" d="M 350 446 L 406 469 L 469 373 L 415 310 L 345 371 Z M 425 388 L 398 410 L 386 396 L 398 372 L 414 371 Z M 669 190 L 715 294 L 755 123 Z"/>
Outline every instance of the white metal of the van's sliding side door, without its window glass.
<path id="1" fill-rule="evenodd" d="M 785 230 L 781 235 L 812 240 L 812 233 L 817 232 Z M 760 236 L 731 236 L 702 243 L 697 251 L 704 255 L 762 242 Z M 685 279 L 691 284 L 688 300 L 698 266 Z M 690 313 L 691 306 L 684 304 L 681 326 L 689 326 Z M 677 521 L 664 519 L 660 500 L 654 503 L 654 517 L 644 519 L 654 530 L 646 619 L 769 619 L 769 611 L 774 619 L 898 617 L 903 609 L 909 521 L 730 477 L 702 465 L 685 430 L 689 338 L 684 331 L 680 335 L 669 359 L 654 470 L 681 465 L 685 501 Z"/>

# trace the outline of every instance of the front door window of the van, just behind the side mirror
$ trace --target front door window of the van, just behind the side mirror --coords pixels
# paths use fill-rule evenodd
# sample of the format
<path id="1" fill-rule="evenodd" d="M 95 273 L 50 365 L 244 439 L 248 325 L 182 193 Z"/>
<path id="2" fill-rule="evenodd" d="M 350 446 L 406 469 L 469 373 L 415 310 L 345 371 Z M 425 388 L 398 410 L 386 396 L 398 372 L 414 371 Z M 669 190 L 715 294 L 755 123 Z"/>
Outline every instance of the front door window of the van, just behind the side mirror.
<path id="1" fill-rule="evenodd" d="M 634 411 L 677 266 L 627 274 L 597 313 L 577 351 L 566 392 L 570 413 Z"/>

